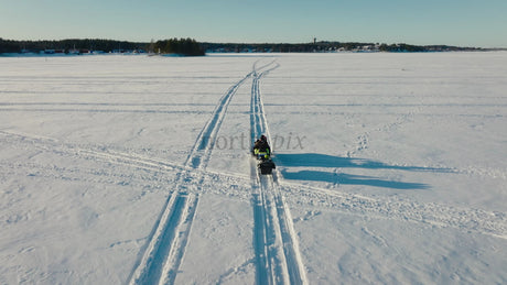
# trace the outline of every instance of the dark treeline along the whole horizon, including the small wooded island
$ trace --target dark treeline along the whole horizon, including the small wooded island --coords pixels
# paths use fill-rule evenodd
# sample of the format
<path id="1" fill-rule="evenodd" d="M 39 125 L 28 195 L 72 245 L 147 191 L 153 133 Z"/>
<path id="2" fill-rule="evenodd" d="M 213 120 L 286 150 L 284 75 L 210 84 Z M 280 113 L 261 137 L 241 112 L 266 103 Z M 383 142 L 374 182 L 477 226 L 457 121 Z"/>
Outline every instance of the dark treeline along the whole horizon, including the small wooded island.
<path id="1" fill-rule="evenodd" d="M 13 41 L 0 37 L 0 54 L 2 53 L 41 53 L 57 51 L 57 53 L 155 53 L 201 56 L 208 53 L 323 53 L 323 52 L 449 52 L 449 51 L 483 51 L 477 47 L 459 47 L 447 45 L 409 45 L 409 44 L 379 44 L 379 43 L 341 43 L 313 42 L 300 44 L 287 43 L 198 43 L 193 39 L 170 39 L 137 43 L 128 41 L 75 39 L 61 41 Z"/>

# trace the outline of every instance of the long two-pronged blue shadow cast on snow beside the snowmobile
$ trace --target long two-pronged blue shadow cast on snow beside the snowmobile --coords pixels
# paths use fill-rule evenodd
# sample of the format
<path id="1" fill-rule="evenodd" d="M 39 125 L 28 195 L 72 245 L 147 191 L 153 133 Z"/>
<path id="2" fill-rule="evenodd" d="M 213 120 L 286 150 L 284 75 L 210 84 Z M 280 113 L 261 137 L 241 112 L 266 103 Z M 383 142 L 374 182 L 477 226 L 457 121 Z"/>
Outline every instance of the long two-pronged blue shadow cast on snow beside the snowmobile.
<path id="1" fill-rule="evenodd" d="M 421 167 L 421 166 L 400 166 L 389 165 L 382 162 L 333 156 L 319 153 L 301 154 L 277 154 L 277 163 L 282 167 L 325 167 L 325 168 L 366 168 L 366 169 L 398 169 L 407 172 L 434 172 L 450 173 L 450 168 Z M 287 168 L 281 171 L 283 178 L 294 180 L 314 180 L 342 185 L 367 185 L 393 189 L 427 189 L 430 186 L 420 183 L 404 183 L 385 180 L 373 176 L 350 175 L 344 173 L 331 173 L 322 171 L 300 171 L 289 172 Z"/>

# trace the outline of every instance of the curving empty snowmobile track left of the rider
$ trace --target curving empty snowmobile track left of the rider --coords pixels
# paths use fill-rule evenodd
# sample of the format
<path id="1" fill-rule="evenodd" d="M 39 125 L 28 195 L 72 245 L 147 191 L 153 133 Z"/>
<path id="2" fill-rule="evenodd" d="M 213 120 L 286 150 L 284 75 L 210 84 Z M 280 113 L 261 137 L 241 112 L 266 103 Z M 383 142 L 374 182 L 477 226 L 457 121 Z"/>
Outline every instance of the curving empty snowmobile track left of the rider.
<path id="1" fill-rule="evenodd" d="M 198 194 L 190 191 L 199 187 L 205 175 L 201 172 L 197 185 L 193 183 L 194 169 L 205 169 L 230 99 L 251 73 L 234 84 L 219 99 L 212 118 L 203 128 L 191 150 L 185 169 L 179 173 L 176 189 L 168 199 L 161 218 L 155 223 L 152 237 L 142 260 L 130 278 L 130 284 L 174 284 L 177 268 L 184 255 L 192 221 L 197 209 Z"/>

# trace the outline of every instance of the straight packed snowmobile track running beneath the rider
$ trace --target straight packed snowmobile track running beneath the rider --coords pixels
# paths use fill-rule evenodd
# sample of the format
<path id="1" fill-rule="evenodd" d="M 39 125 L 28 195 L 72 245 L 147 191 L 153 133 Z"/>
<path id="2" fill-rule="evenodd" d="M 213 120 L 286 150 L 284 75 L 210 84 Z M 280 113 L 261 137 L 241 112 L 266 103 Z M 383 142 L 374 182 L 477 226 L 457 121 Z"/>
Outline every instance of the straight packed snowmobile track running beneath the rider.
<path id="1" fill-rule="evenodd" d="M 254 142 L 261 134 L 270 136 L 259 81 L 262 76 L 279 67 L 274 62 L 259 69 L 254 67 L 250 101 L 250 133 Z M 298 237 L 289 207 L 278 185 L 277 172 L 261 175 L 257 162 L 250 162 L 254 200 L 254 246 L 256 251 L 257 284 L 308 284 L 304 264 L 299 251 Z"/>

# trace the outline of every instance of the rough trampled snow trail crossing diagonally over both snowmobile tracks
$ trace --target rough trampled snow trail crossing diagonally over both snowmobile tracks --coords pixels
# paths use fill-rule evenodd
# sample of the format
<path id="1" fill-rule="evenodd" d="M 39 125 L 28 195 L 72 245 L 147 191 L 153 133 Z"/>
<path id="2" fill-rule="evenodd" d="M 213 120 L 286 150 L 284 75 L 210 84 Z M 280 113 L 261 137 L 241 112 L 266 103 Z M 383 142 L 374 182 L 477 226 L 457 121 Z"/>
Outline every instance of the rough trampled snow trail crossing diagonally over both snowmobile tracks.
<path id="1" fill-rule="evenodd" d="M 110 145 L 99 144 L 76 144 L 63 142 L 52 138 L 45 138 L 34 134 L 20 133 L 13 131 L 0 131 L 0 142 L 2 145 L 15 146 L 17 149 L 36 150 L 43 153 L 52 153 L 62 157 L 72 160 L 95 161 L 99 163 L 116 164 L 136 169 L 142 169 L 144 173 L 153 175 L 142 175 L 139 172 L 132 172 L 129 175 L 108 171 L 104 168 L 96 171 L 85 167 L 61 167 L 54 164 L 40 164 L 35 162 L 1 162 L 0 167 L 6 175 L 15 175 L 17 169 L 23 173 L 33 173 L 40 177 L 47 177 L 55 180 L 72 179 L 86 180 L 90 184 L 112 184 L 117 185 L 122 180 L 128 180 L 131 185 L 144 187 L 148 184 L 160 182 L 160 179 L 172 179 L 174 172 L 185 172 L 193 177 L 206 177 L 203 185 L 197 185 L 197 178 L 192 179 L 188 184 L 190 193 L 197 193 L 197 187 L 202 193 L 216 193 L 249 200 L 251 195 L 247 194 L 248 188 L 224 193 L 229 183 L 247 186 L 251 175 L 241 175 L 233 173 L 218 173 L 212 169 L 194 169 L 177 163 L 161 161 L 148 157 L 145 155 L 132 153 L 130 150 L 120 150 Z M 397 167 L 396 165 L 386 165 L 386 167 Z M 254 167 L 254 171 L 256 168 Z M 439 172 L 438 168 L 420 167 L 421 172 Z M 447 169 L 450 174 L 461 174 L 464 169 Z M 157 174 L 157 175 L 154 175 Z M 255 175 L 257 175 L 255 173 Z M 254 176 L 255 176 L 254 175 Z M 474 173 L 474 175 L 481 175 Z M 209 185 L 213 182 L 213 185 Z M 223 184 L 222 187 L 217 184 Z M 409 221 L 416 223 L 429 223 L 439 228 L 455 228 L 464 232 L 473 231 L 486 235 L 507 239 L 507 215 L 498 211 L 487 211 L 471 207 L 457 207 L 436 202 L 420 202 L 410 199 L 400 199 L 397 197 L 369 197 L 367 195 L 348 194 L 336 191 L 327 188 L 301 185 L 288 180 L 278 180 L 280 189 L 287 193 L 285 199 L 291 205 L 304 207 L 325 208 L 330 211 L 346 212 L 353 215 L 371 215 L 373 217 L 388 218 L 398 221 Z"/>

